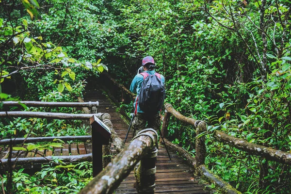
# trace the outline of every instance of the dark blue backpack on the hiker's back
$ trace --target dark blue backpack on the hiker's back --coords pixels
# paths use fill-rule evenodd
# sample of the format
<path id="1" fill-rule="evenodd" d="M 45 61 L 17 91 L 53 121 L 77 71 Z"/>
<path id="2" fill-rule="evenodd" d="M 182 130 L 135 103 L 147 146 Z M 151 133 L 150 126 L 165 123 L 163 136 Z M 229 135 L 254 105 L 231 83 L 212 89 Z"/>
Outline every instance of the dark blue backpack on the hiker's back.
<path id="1" fill-rule="evenodd" d="M 138 96 L 138 105 L 145 113 L 158 113 L 162 109 L 165 99 L 165 88 L 161 74 L 150 75 L 147 72 L 140 73 L 144 81 Z"/>

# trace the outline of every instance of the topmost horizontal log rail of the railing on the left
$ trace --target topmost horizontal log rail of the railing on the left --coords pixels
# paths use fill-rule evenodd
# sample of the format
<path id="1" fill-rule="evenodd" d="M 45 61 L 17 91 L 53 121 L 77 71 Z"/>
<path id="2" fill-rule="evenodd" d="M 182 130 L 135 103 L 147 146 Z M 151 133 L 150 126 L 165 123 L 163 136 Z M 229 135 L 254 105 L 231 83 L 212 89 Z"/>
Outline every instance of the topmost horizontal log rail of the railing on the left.
<path id="1" fill-rule="evenodd" d="M 99 106 L 99 102 L 41 102 L 41 101 L 2 101 L 3 106 L 13 107 L 25 104 L 29 107 L 92 107 Z M 19 104 L 21 103 L 21 104 Z"/>

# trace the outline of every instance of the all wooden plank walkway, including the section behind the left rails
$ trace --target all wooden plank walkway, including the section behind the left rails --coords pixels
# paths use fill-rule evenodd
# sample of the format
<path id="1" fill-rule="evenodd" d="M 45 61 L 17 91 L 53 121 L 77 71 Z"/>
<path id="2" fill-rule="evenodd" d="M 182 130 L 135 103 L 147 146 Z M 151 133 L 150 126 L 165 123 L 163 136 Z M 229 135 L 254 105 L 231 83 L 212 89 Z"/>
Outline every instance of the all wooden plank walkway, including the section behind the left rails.
<path id="1" fill-rule="evenodd" d="M 108 96 L 102 94 L 100 91 L 87 91 L 84 94 L 84 101 L 99 101 L 98 113 L 109 113 L 111 115 L 111 122 L 113 129 L 115 129 L 118 136 L 125 139 L 129 124 L 122 118 L 120 113 L 117 113 L 117 106 L 110 100 Z M 84 121 L 89 124 L 89 121 Z M 130 130 L 126 144 L 132 139 L 133 131 Z M 170 151 L 172 161 L 169 161 L 165 147 L 159 145 L 157 157 L 157 173 L 156 173 L 156 191 L 155 193 L 162 194 L 210 194 L 209 190 L 204 190 L 205 185 L 199 184 L 199 177 L 193 175 L 193 168 L 182 158 L 178 157 L 176 153 Z M 0 146 L 0 159 L 7 159 L 9 153 L 9 146 Z M 18 155 L 19 151 L 12 151 L 12 158 Z M 62 148 L 54 148 L 51 150 L 33 152 L 23 152 L 20 158 L 42 157 L 42 156 L 69 156 L 82 155 L 92 153 L 91 143 L 72 143 L 70 145 L 64 144 Z M 116 155 L 114 146 L 112 145 L 113 157 Z M 41 164 L 29 164 L 23 166 L 24 168 L 40 168 Z M 135 177 L 133 171 L 115 190 L 116 194 L 136 194 L 134 188 Z"/>

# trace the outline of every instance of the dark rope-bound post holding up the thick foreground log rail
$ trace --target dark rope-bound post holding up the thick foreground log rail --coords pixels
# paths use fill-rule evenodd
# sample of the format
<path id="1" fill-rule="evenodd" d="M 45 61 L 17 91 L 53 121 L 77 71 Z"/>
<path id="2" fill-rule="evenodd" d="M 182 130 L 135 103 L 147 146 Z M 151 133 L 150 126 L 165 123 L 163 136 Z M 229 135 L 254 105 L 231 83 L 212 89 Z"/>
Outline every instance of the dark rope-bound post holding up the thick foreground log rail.
<path id="1" fill-rule="evenodd" d="M 154 131 L 153 129 L 144 129 L 141 130 L 136 137 L 149 130 Z M 134 170 L 136 190 L 141 194 L 154 194 L 155 192 L 156 160 L 158 155 L 158 149 L 155 144 L 156 143 L 154 143 L 151 151 L 136 165 Z"/>

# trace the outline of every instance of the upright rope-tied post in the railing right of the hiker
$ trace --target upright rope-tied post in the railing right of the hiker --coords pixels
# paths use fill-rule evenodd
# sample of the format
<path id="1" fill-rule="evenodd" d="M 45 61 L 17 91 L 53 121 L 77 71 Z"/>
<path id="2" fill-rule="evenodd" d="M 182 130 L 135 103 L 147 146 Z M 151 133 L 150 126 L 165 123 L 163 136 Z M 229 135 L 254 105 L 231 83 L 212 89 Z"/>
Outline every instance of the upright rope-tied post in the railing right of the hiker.
<path id="1" fill-rule="evenodd" d="M 195 173 L 199 174 L 199 166 L 205 163 L 206 146 L 205 136 L 201 133 L 206 131 L 207 125 L 204 121 L 197 120 L 194 124 L 196 128 L 196 156 L 195 156 Z"/>

